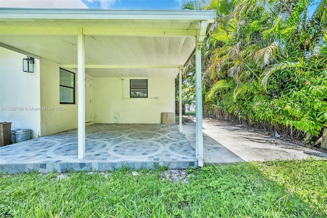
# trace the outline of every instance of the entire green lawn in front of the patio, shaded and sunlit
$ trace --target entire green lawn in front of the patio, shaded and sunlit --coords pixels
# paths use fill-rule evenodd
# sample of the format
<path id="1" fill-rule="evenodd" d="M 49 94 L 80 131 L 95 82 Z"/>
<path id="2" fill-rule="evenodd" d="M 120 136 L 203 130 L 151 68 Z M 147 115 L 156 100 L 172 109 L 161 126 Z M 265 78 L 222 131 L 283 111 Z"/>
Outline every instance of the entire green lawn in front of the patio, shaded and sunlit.
<path id="1" fill-rule="evenodd" d="M 0 217 L 326 217 L 327 162 L 267 161 L 190 168 L 2 175 Z"/>

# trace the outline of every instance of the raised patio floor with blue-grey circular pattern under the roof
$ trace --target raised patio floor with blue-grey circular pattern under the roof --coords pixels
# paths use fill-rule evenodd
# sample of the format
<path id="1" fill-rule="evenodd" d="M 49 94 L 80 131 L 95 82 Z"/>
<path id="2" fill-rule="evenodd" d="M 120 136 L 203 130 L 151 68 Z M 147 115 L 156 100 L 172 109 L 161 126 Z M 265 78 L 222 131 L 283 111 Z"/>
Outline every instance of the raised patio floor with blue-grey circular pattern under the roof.
<path id="1" fill-rule="evenodd" d="M 0 147 L 0 172 L 106 171 L 197 167 L 195 151 L 174 124 L 86 126 L 85 158 L 78 159 L 77 129 Z"/>

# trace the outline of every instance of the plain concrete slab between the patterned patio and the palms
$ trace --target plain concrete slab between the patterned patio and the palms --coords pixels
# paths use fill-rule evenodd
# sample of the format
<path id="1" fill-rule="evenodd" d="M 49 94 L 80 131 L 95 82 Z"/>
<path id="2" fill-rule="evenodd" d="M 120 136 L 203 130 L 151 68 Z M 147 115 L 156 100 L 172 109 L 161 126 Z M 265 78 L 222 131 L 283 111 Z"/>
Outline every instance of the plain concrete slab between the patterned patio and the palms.
<path id="1" fill-rule="evenodd" d="M 183 134 L 195 147 L 195 119 L 183 125 Z M 237 125 L 203 119 L 203 160 L 205 164 L 240 161 L 298 160 L 308 157 L 327 160 L 327 153 L 282 139 L 265 136 Z"/>

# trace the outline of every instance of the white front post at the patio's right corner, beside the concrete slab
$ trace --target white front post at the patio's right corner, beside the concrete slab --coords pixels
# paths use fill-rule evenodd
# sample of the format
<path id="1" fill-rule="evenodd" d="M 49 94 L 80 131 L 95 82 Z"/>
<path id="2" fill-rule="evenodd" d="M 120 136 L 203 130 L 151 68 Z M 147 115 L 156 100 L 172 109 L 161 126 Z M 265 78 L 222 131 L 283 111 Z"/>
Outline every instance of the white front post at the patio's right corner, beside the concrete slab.
<path id="1" fill-rule="evenodd" d="M 195 152 L 198 166 L 203 166 L 203 133 L 202 133 L 202 70 L 201 70 L 201 46 L 197 46 L 195 54 Z"/>

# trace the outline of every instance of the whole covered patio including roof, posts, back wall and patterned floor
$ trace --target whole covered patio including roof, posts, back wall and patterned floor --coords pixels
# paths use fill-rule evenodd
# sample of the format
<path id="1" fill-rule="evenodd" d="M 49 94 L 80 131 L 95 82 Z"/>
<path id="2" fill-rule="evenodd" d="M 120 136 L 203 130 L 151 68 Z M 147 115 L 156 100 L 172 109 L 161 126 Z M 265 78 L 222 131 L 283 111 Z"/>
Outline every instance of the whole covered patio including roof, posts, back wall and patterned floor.
<path id="1" fill-rule="evenodd" d="M 39 130 L 41 136 L 46 136 L 77 128 L 19 144 L 24 147 L 33 142 L 24 149 L 14 149 L 18 144 L 3 148 L 6 152 L 1 152 L 5 158 L 1 167 L 6 168 L 10 160 L 6 156 L 20 152 L 24 153 L 19 156 L 24 161 L 13 164 L 31 161 L 33 165 L 34 161 L 42 160 L 39 166 L 31 168 L 44 171 L 102 170 L 118 167 L 123 162 L 135 168 L 140 164 L 151 166 L 154 162 L 170 163 L 172 168 L 203 166 L 201 46 L 215 17 L 215 11 L 0 9 L 0 46 L 39 60 L 39 73 L 35 78 L 28 77 L 36 86 L 28 86 L 24 80 L 20 85 L 27 86 L 37 95 L 33 103 L 26 103 L 32 105 L 24 105 L 39 111 L 34 115 L 35 133 Z M 194 54 L 195 154 L 183 147 L 187 145 L 177 133 L 170 133 L 172 128 L 178 132 L 176 126 L 158 124 L 161 113 L 175 110 L 176 77 L 179 77 L 179 99 L 182 99 L 182 69 Z M 72 87 L 65 87 L 72 93 L 70 104 L 59 102 L 60 69 L 74 74 Z M 3 75 L 9 78 L 10 66 Z M 147 81 L 144 98 L 129 95 L 133 79 Z M 87 80 L 94 82 L 87 86 L 88 94 Z M 12 82 L 12 79 L 8 81 Z M 64 89 L 62 85 L 60 89 Z M 10 101 L 7 102 L 10 105 L 4 106 L 12 106 Z M 179 105 L 181 108 L 181 101 Z M 6 119 L 24 117 L 23 113 L 25 117 L 31 116 L 29 110 L 19 113 L 8 115 Z M 120 128 L 119 124 L 96 124 L 86 128 L 86 122 L 125 123 L 124 127 L 129 130 L 116 130 Z M 140 132 L 138 124 L 129 123 L 152 123 L 143 129 L 154 129 L 154 132 Z M 154 123 L 157 124 L 152 126 Z M 181 129 L 180 121 L 179 132 Z M 27 157 L 30 152 L 33 157 Z M 70 165 L 65 165 L 68 162 Z M 25 164 L 21 167 L 22 171 L 27 168 Z"/>

